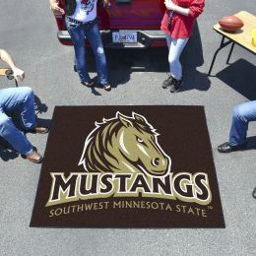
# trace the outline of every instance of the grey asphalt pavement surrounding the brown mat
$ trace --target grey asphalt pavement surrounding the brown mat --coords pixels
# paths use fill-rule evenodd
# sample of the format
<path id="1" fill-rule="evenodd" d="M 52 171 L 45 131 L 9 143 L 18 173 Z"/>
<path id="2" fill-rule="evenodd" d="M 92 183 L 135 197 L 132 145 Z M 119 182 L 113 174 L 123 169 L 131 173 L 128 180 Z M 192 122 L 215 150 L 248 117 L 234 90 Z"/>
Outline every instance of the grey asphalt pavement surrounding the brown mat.
<path id="1" fill-rule="evenodd" d="M 0 151 L 0 255 L 256 255 L 256 123 L 248 130 L 249 150 L 228 155 L 225 142 L 232 107 L 256 98 L 255 55 L 226 47 L 207 77 L 221 36 L 212 27 L 229 14 L 256 15 L 255 1 L 206 1 L 196 36 L 182 56 L 185 85 L 178 94 L 160 89 L 166 77 L 165 49 L 107 51 L 114 89 L 82 87 L 73 72 L 73 48 L 61 45 L 48 1 L 1 1 L 0 47 L 26 71 L 23 86 L 42 103 L 38 117 L 51 119 L 55 105 L 170 104 L 204 105 L 224 208 L 224 229 L 204 228 L 32 228 L 29 227 L 40 165 Z M 256 27 L 256 25 L 255 25 Z M 138 53 L 139 52 L 139 53 Z M 92 58 L 93 62 L 93 58 Z M 95 75 L 94 62 L 91 72 Z M 0 88 L 13 87 L 0 79 Z M 47 135 L 30 135 L 40 153 Z"/>

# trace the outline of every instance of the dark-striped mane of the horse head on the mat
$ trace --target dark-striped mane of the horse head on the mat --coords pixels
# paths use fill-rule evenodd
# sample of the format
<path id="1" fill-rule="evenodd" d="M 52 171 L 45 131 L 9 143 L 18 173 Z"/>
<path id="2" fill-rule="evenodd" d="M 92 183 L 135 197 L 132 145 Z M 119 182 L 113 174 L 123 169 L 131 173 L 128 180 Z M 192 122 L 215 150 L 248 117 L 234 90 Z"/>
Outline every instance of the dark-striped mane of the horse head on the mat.
<path id="1" fill-rule="evenodd" d="M 116 112 L 116 116 L 111 119 L 104 119 L 101 123 L 96 122 L 96 128 L 89 134 L 86 139 L 84 152 L 79 162 L 84 165 L 84 168 L 89 172 L 114 172 L 115 167 L 110 160 L 118 160 L 113 156 L 109 150 L 108 145 L 112 144 L 112 139 L 117 136 L 120 129 L 123 127 L 122 118 L 140 132 L 146 132 L 158 135 L 156 130 L 147 120 L 142 118 L 135 118 L 140 116 L 133 112 L 133 117 L 128 117 L 120 112 Z"/>

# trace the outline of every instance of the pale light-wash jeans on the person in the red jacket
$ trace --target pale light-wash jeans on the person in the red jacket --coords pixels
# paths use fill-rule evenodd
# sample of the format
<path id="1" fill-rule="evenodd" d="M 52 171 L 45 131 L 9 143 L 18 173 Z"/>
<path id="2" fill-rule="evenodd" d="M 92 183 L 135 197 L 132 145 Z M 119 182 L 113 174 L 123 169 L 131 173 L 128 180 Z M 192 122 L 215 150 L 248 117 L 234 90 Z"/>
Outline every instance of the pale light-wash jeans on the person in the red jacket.
<path id="1" fill-rule="evenodd" d="M 165 37 L 169 48 L 169 73 L 176 80 L 180 80 L 182 78 L 182 67 L 179 58 L 189 38 L 172 38 L 169 34 L 165 34 Z"/>

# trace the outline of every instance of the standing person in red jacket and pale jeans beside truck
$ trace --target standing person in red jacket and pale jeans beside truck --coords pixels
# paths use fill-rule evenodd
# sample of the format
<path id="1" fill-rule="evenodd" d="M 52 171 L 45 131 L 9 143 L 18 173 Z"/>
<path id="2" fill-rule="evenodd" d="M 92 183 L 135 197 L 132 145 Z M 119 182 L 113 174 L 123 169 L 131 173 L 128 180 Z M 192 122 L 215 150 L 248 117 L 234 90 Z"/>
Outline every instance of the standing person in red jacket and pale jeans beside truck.
<path id="1" fill-rule="evenodd" d="M 180 90 L 183 81 L 179 58 L 192 35 L 195 20 L 203 12 L 205 0 L 164 0 L 164 5 L 166 11 L 160 30 L 166 34 L 170 75 L 161 87 L 175 93 Z"/>

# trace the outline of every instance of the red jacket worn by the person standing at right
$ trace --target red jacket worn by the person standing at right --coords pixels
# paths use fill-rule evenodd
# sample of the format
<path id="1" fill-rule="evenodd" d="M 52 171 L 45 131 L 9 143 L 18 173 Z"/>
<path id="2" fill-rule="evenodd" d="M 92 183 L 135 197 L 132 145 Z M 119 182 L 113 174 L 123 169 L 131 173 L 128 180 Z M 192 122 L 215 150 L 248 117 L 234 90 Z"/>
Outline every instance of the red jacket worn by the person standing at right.
<path id="1" fill-rule="evenodd" d="M 190 37 L 196 18 L 203 13 L 205 0 L 173 0 L 173 3 L 180 7 L 188 8 L 189 15 L 184 16 L 174 12 L 170 29 L 168 29 L 169 11 L 166 10 L 161 21 L 160 30 L 170 34 L 172 38 Z"/>

